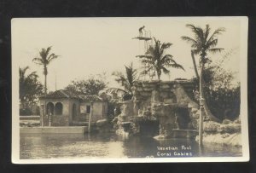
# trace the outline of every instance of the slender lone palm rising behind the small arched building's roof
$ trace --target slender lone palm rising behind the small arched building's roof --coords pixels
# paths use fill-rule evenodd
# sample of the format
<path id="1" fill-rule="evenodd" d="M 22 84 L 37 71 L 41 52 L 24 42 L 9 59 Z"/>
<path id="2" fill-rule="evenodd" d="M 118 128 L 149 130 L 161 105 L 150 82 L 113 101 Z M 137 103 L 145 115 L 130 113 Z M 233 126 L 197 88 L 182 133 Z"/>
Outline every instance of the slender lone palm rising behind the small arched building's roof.
<path id="1" fill-rule="evenodd" d="M 40 58 L 36 57 L 32 61 L 34 61 L 36 64 L 44 66 L 44 95 L 47 94 L 47 66 L 51 61 L 59 57 L 58 55 L 55 54 L 50 54 L 49 51 L 51 50 L 51 46 L 49 46 L 47 49 L 41 49 L 39 51 Z"/>

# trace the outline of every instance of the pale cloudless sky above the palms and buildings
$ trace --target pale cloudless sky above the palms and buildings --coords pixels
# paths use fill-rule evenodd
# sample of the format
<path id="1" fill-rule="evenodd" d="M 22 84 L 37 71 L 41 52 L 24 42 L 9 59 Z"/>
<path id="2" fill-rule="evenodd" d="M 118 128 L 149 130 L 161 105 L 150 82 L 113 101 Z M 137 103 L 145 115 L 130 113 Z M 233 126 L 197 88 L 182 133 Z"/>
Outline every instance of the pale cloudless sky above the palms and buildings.
<path id="1" fill-rule="evenodd" d="M 138 28 L 145 30 L 161 43 L 172 43 L 166 54 L 173 55 L 185 71 L 171 68 L 170 75 L 162 80 L 192 78 L 195 76 L 190 55 L 190 45 L 181 37 L 193 37 L 186 24 L 205 27 L 211 31 L 224 27 L 218 36 L 222 53 L 210 55 L 213 63 L 233 49 L 224 68 L 239 73 L 241 55 L 241 20 L 238 18 L 24 18 L 12 20 L 12 60 L 17 66 L 29 66 L 29 72 L 38 72 L 44 84 L 43 66 L 32 59 L 39 57 L 42 48 L 52 46 L 52 53 L 60 55 L 48 66 L 48 89 L 64 89 L 74 79 L 88 78 L 91 74 L 106 73 L 108 86 L 117 87 L 112 72 L 125 72 L 125 65 L 141 69 L 136 55 L 144 52 L 143 41 L 132 39 L 138 36 Z M 198 61 L 198 56 L 195 57 Z M 18 69 L 17 69 L 18 72 Z M 239 75 L 236 78 L 239 81 Z"/>

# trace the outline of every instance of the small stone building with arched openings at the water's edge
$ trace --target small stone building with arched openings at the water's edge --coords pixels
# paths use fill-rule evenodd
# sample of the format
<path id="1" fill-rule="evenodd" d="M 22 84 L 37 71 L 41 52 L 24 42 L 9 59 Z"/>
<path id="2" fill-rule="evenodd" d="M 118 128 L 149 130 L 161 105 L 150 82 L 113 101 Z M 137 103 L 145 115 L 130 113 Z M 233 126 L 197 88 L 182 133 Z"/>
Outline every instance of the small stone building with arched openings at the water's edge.
<path id="1" fill-rule="evenodd" d="M 97 95 L 76 95 L 67 90 L 56 90 L 40 97 L 41 125 L 85 125 L 107 117 L 108 101 Z M 46 107 L 45 107 L 46 106 Z"/>

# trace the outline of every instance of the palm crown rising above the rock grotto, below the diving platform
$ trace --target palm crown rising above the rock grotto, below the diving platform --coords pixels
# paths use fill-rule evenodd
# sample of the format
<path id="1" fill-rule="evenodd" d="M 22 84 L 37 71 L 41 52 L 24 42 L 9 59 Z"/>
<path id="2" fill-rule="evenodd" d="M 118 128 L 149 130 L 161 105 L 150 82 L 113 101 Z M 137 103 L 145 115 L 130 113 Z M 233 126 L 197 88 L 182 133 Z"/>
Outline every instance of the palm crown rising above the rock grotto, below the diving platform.
<path id="1" fill-rule="evenodd" d="M 159 40 L 154 37 L 154 45 L 150 45 L 145 55 L 137 55 L 137 57 L 142 59 L 142 63 L 145 65 L 145 70 L 143 74 L 150 72 L 152 76 L 157 75 L 160 80 L 162 72 L 169 74 L 170 70 L 167 67 L 173 67 L 178 69 L 183 69 L 183 66 L 179 65 L 173 60 L 172 55 L 165 54 L 166 49 L 170 48 L 172 43 L 160 43 Z"/>

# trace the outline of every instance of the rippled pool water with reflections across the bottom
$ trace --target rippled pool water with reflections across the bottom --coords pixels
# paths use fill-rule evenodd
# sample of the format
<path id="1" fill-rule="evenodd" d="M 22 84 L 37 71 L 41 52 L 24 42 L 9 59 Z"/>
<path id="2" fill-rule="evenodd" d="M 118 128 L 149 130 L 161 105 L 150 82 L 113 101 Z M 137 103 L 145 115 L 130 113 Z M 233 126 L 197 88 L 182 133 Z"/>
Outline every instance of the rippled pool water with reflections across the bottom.
<path id="1" fill-rule="evenodd" d="M 183 147 L 182 147 L 183 146 Z M 187 147 L 187 148 L 184 148 Z M 183 154 L 183 155 L 182 155 Z M 241 147 L 205 144 L 192 140 L 156 141 L 150 137 L 124 139 L 115 134 L 20 134 L 20 159 L 49 158 L 168 158 L 241 156 Z"/>

